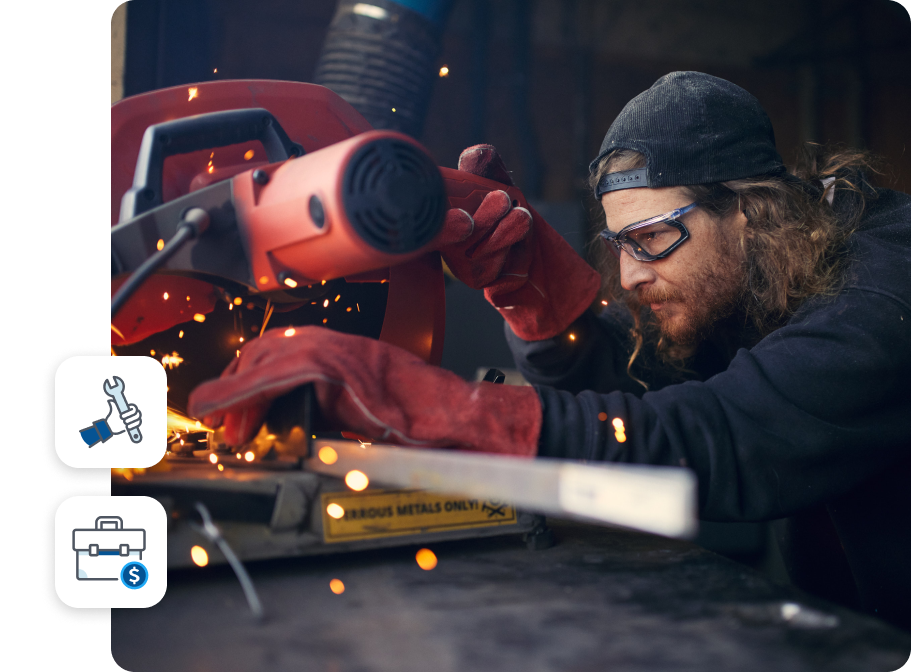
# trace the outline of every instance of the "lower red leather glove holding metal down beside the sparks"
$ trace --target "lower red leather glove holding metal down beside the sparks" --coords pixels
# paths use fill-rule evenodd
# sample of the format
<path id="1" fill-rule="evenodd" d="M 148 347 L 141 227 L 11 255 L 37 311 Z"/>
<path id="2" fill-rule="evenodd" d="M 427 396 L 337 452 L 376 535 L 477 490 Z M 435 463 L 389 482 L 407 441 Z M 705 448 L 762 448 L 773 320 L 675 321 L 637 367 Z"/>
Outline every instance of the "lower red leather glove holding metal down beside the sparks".
<path id="1" fill-rule="evenodd" d="M 240 445 L 256 435 L 274 399 L 314 383 L 323 417 L 407 446 L 456 447 L 533 457 L 541 402 L 532 387 L 468 383 L 388 343 L 302 327 L 247 343 L 221 378 L 190 395 L 189 412 Z"/>

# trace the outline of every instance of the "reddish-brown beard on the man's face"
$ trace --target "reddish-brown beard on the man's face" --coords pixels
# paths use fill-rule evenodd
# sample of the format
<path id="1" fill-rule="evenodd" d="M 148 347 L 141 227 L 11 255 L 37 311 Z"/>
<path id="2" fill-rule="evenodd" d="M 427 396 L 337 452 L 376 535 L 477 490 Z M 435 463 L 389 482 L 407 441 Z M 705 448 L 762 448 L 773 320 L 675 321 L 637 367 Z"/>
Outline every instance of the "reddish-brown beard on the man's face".
<path id="1" fill-rule="evenodd" d="M 745 279 L 740 256 L 735 245 L 721 244 L 726 249 L 719 249 L 717 256 L 694 271 L 685 284 L 637 291 L 640 306 L 664 304 L 651 315 L 666 345 L 698 345 L 739 305 Z"/>

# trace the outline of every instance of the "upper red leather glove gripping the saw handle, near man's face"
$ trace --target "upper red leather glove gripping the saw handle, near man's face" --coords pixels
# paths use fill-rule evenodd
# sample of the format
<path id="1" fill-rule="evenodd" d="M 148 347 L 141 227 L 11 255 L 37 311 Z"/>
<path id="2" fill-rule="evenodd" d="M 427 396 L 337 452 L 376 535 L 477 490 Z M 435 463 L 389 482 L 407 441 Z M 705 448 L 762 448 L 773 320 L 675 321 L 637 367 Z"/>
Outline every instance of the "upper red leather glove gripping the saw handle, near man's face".
<path id="1" fill-rule="evenodd" d="M 491 145 L 469 147 L 459 170 L 512 186 Z M 491 233 L 492 230 L 492 233 Z M 439 250 L 459 280 L 484 296 L 526 341 L 553 338 L 591 305 L 601 276 L 534 209 L 512 207 L 505 191 L 477 211 L 450 209 Z"/>

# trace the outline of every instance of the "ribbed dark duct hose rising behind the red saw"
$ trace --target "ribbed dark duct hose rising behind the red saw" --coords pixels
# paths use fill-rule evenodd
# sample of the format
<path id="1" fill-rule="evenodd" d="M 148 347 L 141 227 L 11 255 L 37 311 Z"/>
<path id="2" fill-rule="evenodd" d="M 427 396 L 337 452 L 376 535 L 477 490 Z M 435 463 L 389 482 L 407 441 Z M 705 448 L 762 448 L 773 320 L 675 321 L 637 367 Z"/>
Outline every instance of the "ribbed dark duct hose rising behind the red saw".
<path id="1" fill-rule="evenodd" d="M 419 137 L 451 4 L 452 0 L 342 0 L 329 26 L 314 83 L 339 94 L 374 128 Z"/>

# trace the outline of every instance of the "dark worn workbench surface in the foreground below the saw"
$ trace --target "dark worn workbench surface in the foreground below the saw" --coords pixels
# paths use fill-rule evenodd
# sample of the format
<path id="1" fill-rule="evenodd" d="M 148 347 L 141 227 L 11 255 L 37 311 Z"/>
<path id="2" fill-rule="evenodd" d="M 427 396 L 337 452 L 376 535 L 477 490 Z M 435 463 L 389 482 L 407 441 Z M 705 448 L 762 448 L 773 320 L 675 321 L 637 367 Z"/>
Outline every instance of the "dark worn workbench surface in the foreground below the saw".
<path id="1" fill-rule="evenodd" d="M 546 550 L 433 544 L 431 571 L 413 546 L 248 563 L 262 623 L 230 568 L 172 571 L 155 607 L 112 610 L 112 656 L 130 672 L 891 672 L 911 655 L 911 634 L 694 544 L 549 524 Z"/>

